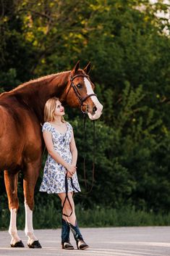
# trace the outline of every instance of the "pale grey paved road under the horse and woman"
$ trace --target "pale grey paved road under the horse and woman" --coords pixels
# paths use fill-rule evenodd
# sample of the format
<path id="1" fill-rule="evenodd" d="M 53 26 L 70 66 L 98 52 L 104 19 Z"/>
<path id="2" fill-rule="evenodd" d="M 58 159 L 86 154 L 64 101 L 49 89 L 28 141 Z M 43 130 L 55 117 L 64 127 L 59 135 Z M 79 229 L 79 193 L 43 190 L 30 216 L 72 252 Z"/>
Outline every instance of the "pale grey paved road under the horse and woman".
<path id="1" fill-rule="evenodd" d="M 43 249 L 27 248 L 27 239 L 19 231 L 25 248 L 9 247 L 9 234 L 0 232 L 0 256 L 170 256 L 170 226 L 140 228 L 81 228 L 90 248 L 64 250 L 60 229 L 35 230 Z M 75 245 L 71 236 L 72 244 Z"/>

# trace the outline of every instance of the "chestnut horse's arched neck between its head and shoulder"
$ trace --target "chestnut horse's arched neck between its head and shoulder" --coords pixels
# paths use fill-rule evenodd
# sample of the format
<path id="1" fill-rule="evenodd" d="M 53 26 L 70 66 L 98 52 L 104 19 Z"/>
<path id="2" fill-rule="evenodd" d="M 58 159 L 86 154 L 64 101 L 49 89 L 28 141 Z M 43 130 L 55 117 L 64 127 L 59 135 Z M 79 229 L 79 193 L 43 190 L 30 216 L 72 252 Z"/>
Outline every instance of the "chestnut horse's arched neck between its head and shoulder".
<path id="1" fill-rule="evenodd" d="M 46 79 L 40 78 L 14 89 L 13 93 L 19 101 L 24 102 L 35 112 L 38 120 L 43 123 L 43 110 L 46 101 L 53 96 L 60 97 L 67 85 L 69 72 L 51 75 Z"/>

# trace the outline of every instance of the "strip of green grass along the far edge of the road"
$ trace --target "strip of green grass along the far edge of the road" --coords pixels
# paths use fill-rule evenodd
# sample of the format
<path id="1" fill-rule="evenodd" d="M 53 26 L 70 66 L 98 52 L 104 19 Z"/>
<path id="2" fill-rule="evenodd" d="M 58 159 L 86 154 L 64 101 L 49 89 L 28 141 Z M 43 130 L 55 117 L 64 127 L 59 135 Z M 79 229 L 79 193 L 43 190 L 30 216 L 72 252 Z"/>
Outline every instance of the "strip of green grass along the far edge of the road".
<path id="1" fill-rule="evenodd" d="M 122 207 L 119 210 L 95 206 L 85 210 L 76 206 L 76 215 L 82 227 L 118 227 L 118 226 L 169 226 L 170 213 L 144 212 L 133 207 Z M 46 206 L 35 207 L 33 214 L 34 228 L 60 228 L 61 210 L 56 209 L 51 201 Z M 0 212 L 0 230 L 9 228 L 9 210 Z M 25 228 L 25 210 L 22 206 L 17 215 L 17 228 Z"/>

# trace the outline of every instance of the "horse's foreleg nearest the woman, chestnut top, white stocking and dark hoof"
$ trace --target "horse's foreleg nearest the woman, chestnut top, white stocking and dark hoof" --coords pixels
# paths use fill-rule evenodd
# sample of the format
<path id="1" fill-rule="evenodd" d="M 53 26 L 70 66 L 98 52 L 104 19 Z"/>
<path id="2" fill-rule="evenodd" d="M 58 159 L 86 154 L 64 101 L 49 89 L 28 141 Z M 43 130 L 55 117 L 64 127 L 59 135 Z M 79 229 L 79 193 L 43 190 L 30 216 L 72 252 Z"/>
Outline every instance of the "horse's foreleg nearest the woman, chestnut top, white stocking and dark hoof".
<path id="1" fill-rule="evenodd" d="M 24 194 L 25 194 L 25 235 L 28 236 L 27 245 L 30 248 L 41 248 L 37 237 L 33 231 L 33 205 L 35 183 L 39 175 L 39 165 L 27 165 L 24 175 Z"/>

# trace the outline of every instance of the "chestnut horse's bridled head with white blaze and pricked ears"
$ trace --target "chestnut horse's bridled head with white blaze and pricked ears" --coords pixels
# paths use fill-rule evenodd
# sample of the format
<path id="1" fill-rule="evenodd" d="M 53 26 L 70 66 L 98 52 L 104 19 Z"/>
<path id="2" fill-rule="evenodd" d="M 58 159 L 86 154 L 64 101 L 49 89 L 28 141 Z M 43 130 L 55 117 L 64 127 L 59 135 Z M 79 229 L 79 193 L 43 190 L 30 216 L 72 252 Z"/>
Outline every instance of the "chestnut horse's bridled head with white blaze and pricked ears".
<path id="1" fill-rule="evenodd" d="M 90 62 L 83 69 L 79 69 L 79 61 L 69 73 L 65 100 L 70 107 L 80 107 L 83 113 L 87 113 L 91 120 L 98 119 L 103 106 L 98 102 L 94 93 L 94 84 L 90 81 Z"/>

